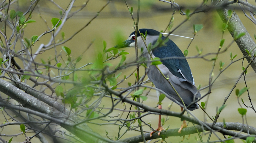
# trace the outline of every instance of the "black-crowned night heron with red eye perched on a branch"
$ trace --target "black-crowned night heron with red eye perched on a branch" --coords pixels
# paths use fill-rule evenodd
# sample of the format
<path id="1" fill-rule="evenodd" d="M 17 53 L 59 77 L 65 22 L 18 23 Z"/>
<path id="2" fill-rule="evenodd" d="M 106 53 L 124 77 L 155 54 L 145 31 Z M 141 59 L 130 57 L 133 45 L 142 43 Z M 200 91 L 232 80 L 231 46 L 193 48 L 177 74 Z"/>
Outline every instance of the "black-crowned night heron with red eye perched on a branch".
<path id="1" fill-rule="evenodd" d="M 195 100 L 198 100 L 201 95 L 195 86 L 195 81 L 189 64 L 179 47 L 171 39 L 166 39 L 166 37 L 161 32 L 158 32 L 154 29 L 139 29 L 139 31 L 137 32 L 137 46 L 138 49 L 141 48 L 141 56 L 146 57 L 148 61 L 150 61 L 152 58 L 158 57 L 162 62 L 159 65 L 150 64 L 148 66 L 147 76 L 149 80 L 153 82 L 157 89 L 164 91 L 166 97 L 173 102 L 179 105 L 185 104 L 186 108 L 191 111 L 198 109 L 199 105 L 197 102 L 195 102 Z M 146 37 L 143 37 L 143 39 L 146 39 L 146 45 L 151 43 L 151 47 L 157 43 L 159 37 L 162 40 L 166 40 L 163 44 L 159 44 L 158 42 L 158 46 L 154 47 L 151 51 L 148 51 L 140 33 Z M 135 40 L 136 36 L 134 31 L 130 34 L 127 40 L 116 45 L 115 47 L 135 47 Z M 165 77 L 162 74 L 164 74 Z M 184 103 L 171 85 L 177 91 Z M 160 96 L 160 92 L 158 91 L 157 96 L 158 98 Z M 161 104 L 158 105 L 158 109 L 162 109 Z M 181 112 L 183 110 L 184 109 L 181 106 Z M 186 121 L 183 121 L 178 132 L 181 133 L 181 130 L 185 127 L 187 127 L 187 124 Z M 158 131 L 158 135 L 160 136 L 162 130 L 164 129 L 161 125 L 161 115 L 159 115 L 158 128 L 155 131 Z M 155 131 L 150 133 L 150 137 L 152 137 L 152 134 Z"/>

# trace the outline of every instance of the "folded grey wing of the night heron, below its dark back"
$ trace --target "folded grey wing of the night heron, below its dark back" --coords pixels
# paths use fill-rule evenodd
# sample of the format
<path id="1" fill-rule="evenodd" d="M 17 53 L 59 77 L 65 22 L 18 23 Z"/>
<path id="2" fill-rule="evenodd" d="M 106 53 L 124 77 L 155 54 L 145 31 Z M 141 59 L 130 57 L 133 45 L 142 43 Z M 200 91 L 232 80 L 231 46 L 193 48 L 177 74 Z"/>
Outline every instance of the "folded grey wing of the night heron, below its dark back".
<path id="1" fill-rule="evenodd" d="M 169 81 L 174 86 L 175 90 L 179 93 L 179 95 L 181 96 L 181 98 L 184 101 L 186 106 L 191 104 L 194 101 L 194 99 L 197 100 L 198 98 L 201 97 L 201 95 L 198 92 L 198 90 L 196 89 L 195 85 L 186 81 L 184 78 L 179 78 L 179 77 L 173 75 L 168 70 L 168 68 L 163 64 L 158 65 L 158 67 L 162 71 L 162 73 L 165 75 L 165 77 L 167 77 L 167 75 L 168 75 Z M 150 65 L 150 67 L 148 69 L 148 78 L 150 79 L 150 81 L 153 82 L 153 84 L 155 85 L 156 88 L 161 89 L 162 91 L 166 92 L 168 94 L 167 97 L 170 100 L 174 101 L 175 103 L 178 102 L 178 103 L 183 104 L 181 99 L 178 97 L 178 95 L 175 93 L 175 91 L 173 90 L 171 85 L 168 83 L 168 81 L 166 81 L 166 79 L 158 71 L 156 66 Z M 173 97 L 177 101 L 173 100 L 171 97 Z M 199 108 L 197 103 L 193 104 L 188 109 L 193 111 L 196 108 Z"/>

